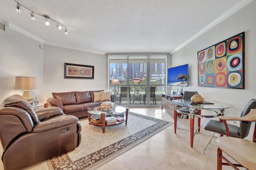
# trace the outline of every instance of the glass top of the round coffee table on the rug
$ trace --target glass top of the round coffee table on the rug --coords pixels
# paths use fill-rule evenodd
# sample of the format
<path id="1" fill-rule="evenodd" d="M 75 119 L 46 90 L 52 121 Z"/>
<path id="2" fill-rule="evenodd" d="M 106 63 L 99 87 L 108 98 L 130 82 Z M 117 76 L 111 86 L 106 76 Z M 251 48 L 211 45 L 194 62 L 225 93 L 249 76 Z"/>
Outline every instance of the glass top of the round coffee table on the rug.
<path id="1" fill-rule="evenodd" d="M 126 112 L 126 108 L 122 107 L 122 106 L 116 106 L 110 111 L 102 111 L 102 110 L 100 110 L 100 106 L 93 107 L 88 110 L 88 113 L 90 113 L 92 115 L 100 115 L 101 113 L 104 113 L 105 115 L 117 115 L 117 114 L 124 113 L 124 112 Z"/>

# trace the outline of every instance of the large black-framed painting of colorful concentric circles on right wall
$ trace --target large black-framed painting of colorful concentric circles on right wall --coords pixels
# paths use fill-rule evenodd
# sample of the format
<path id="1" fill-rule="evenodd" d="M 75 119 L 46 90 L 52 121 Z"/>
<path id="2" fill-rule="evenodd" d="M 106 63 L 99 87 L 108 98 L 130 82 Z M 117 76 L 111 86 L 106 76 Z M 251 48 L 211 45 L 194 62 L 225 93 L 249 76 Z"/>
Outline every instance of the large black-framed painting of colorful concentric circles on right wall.
<path id="1" fill-rule="evenodd" d="M 198 86 L 244 89 L 244 32 L 197 55 Z"/>

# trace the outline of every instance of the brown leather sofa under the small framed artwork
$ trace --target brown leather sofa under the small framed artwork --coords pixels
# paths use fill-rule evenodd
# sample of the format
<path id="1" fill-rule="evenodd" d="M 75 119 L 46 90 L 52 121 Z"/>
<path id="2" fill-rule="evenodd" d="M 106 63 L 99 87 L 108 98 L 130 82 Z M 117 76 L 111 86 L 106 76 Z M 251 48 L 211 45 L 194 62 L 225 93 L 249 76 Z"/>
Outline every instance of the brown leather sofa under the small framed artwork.
<path id="1" fill-rule="evenodd" d="M 104 90 L 52 93 L 53 98 L 48 98 L 47 102 L 51 106 L 60 107 L 67 115 L 87 117 L 87 107 L 98 107 L 106 101 L 94 102 L 94 92 L 104 92 Z M 115 102 L 116 98 L 116 94 L 110 94 L 111 102 Z"/>

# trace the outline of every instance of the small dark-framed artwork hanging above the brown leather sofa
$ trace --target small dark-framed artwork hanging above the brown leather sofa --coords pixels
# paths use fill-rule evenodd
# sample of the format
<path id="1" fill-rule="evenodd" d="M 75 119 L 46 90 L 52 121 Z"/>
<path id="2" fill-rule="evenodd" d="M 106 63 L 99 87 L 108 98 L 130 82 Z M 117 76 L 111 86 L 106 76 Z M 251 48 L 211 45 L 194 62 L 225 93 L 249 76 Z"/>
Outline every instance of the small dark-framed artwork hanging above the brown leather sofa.
<path id="1" fill-rule="evenodd" d="M 94 66 L 64 63 L 64 78 L 94 79 Z"/>

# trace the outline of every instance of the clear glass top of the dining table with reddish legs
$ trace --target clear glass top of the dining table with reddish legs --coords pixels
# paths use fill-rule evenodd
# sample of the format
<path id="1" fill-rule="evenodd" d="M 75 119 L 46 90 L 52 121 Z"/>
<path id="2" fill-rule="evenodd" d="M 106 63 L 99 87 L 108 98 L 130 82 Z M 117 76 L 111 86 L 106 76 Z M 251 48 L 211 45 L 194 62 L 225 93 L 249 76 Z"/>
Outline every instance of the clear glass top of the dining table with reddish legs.
<path id="1" fill-rule="evenodd" d="M 183 107 L 192 107 L 196 109 L 227 109 L 230 106 L 228 104 L 220 103 L 220 102 L 212 102 L 213 104 L 197 104 L 197 105 L 190 105 L 186 100 L 170 100 L 170 102 L 177 106 Z"/>

